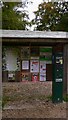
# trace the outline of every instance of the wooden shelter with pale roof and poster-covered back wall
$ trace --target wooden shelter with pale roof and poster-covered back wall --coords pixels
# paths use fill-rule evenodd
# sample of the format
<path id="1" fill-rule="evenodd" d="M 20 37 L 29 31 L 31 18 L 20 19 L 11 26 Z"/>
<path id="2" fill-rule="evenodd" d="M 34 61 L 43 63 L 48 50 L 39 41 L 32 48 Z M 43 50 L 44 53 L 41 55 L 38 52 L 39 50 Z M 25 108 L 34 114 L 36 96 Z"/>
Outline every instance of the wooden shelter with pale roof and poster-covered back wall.
<path id="1" fill-rule="evenodd" d="M 51 81 L 53 53 L 62 52 L 64 90 L 67 89 L 67 32 L 0 30 L 0 38 L 3 81 Z"/>

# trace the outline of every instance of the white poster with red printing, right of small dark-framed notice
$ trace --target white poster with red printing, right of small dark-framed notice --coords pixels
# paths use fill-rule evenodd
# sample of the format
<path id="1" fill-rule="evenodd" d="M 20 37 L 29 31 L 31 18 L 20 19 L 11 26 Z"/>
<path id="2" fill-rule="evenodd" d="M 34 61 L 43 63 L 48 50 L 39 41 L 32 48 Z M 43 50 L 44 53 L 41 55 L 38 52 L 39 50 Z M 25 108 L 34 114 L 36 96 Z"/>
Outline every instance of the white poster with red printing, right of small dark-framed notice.
<path id="1" fill-rule="evenodd" d="M 39 72 L 39 60 L 31 60 L 30 71 L 31 72 Z"/>

